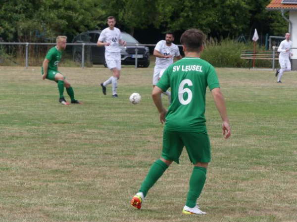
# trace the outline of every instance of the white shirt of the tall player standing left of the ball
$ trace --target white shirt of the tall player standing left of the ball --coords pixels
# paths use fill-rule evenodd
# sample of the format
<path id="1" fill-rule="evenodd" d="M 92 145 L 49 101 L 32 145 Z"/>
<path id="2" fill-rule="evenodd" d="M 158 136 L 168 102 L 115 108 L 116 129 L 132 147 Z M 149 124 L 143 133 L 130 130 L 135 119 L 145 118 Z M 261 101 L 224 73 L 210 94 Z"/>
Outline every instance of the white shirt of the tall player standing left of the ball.
<path id="1" fill-rule="evenodd" d="M 119 40 L 122 39 L 121 31 L 114 27 L 109 29 L 109 27 L 102 30 L 98 40 L 102 42 L 110 42 L 110 45 L 105 45 L 105 50 L 108 52 L 120 52 Z"/>

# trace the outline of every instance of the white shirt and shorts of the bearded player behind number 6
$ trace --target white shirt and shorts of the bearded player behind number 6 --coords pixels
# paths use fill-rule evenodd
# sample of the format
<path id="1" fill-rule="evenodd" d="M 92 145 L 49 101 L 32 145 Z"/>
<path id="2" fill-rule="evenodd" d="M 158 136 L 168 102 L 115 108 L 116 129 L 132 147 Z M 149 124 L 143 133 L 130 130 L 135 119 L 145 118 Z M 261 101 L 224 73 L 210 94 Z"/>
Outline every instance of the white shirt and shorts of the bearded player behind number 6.
<path id="1" fill-rule="evenodd" d="M 156 57 L 155 67 L 153 69 L 152 84 L 156 85 L 159 78 L 162 76 L 165 69 L 173 63 L 174 57 L 180 56 L 179 48 L 176 44 L 171 43 L 170 46 L 166 45 L 165 40 L 160 40 L 155 48 L 163 55 L 171 55 L 171 58 Z"/>

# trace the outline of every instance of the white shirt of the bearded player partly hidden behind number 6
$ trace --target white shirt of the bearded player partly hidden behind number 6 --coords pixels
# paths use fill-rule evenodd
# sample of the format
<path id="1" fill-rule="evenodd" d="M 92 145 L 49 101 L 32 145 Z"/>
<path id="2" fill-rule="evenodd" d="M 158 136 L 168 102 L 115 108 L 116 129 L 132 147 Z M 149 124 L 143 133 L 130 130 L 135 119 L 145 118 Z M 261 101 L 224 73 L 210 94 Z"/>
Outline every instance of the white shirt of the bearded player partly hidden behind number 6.
<path id="1" fill-rule="evenodd" d="M 159 58 L 156 57 L 155 66 L 158 68 L 167 68 L 173 63 L 174 57 L 180 56 L 179 48 L 176 44 L 171 43 L 170 46 L 166 45 L 165 40 L 160 40 L 156 44 L 155 50 L 159 51 L 163 55 L 171 55 L 171 58 Z"/>

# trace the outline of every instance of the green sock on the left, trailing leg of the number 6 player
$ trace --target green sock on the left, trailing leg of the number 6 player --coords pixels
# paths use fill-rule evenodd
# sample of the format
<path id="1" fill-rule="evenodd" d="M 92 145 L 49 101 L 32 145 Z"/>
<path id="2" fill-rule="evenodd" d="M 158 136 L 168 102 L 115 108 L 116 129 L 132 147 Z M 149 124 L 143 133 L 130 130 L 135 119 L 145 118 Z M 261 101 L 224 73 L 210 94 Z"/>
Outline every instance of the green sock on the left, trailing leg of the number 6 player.
<path id="1" fill-rule="evenodd" d="M 142 183 L 140 190 L 138 192 L 142 192 L 144 196 L 147 195 L 148 190 L 152 187 L 157 180 L 162 176 L 165 170 L 168 168 L 167 164 L 162 160 L 156 160 L 150 167 L 148 171 L 148 175 Z"/>

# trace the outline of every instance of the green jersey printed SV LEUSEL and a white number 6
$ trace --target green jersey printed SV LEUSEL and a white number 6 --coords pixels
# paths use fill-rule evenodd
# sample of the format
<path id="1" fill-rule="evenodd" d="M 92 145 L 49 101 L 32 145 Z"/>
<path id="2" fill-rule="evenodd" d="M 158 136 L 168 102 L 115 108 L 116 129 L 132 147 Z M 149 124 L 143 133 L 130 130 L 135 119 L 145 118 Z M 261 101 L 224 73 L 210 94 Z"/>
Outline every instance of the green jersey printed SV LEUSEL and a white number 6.
<path id="1" fill-rule="evenodd" d="M 157 83 L 164 92 L 171 87 L 171 105 L 165 129 L 181 132 L 205 130 L 205 93 L 220 87 L 212 65 L 198 57 L 185 57 L 170 65 Z"/>

